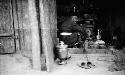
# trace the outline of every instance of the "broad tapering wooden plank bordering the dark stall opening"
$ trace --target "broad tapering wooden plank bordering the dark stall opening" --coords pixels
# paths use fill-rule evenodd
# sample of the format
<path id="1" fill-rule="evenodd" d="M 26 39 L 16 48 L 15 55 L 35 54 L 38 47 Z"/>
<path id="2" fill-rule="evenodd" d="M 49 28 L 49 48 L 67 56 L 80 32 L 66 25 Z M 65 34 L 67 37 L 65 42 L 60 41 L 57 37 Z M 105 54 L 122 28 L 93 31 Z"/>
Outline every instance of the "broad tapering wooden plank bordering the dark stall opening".
<path id="1" fill-rule="evenodd" d="M 47 71 L 51 72 L 54 65 L 54 47 L 56 45 L 56 2 L 40 0 L 40 21 L 42 29 L 42 47 L 46 55 Z"/>

